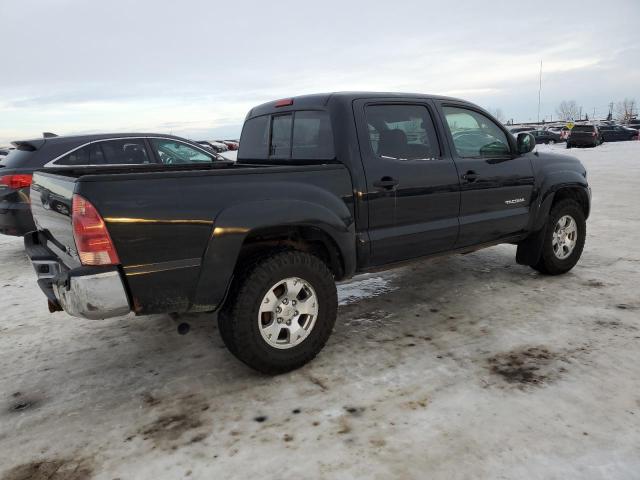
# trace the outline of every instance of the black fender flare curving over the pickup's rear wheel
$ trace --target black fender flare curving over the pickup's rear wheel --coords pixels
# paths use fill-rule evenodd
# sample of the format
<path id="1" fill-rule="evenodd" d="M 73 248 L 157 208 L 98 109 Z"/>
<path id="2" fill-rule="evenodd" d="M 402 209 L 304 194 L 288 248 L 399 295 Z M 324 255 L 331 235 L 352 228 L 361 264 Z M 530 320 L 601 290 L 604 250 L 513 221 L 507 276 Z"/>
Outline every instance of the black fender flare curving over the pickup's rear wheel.
<path id="1" fill-rule="evenodd" d="M 327 234 L 337 246 L 347 276 L 356 266 L 355 223 L 337 197 L 329 206 L 299 199 L 272 199 L 232 205 L 214 221 L 204 252 L 191 311 L 215 310 L 224 301 L 240 250 L 252 232 L 270 227 L 313 227 Z"/>

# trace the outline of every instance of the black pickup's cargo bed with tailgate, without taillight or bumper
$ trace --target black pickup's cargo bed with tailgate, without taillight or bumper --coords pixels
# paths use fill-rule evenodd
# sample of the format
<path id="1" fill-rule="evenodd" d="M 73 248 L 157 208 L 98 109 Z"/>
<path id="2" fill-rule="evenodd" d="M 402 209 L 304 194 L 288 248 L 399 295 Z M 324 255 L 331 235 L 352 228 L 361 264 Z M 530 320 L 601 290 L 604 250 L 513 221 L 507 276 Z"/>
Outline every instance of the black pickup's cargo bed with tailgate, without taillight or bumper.
<path id="1" fill-rule="evenodd" d="M 249 226 L 260 227 L 266 206 L 273 211 L 264 217 L 269 225 L 274 218 L 284 224 L 298 221 L 307 205 L 325 205 L 328 212 L 338 212 L 344 231 L 353 228 L 351 179 L 342 164 L 36 172 L 31 201 L 38 235 L 69 269 L 80 267 L 71 220 L 74 194 L 91 202 L 104 219 L 132 308 L 140 314 L 214 309 L 233 271 L 233 252 Z M 215 244 L 220 251 L 211 250 Z M 218 275 L 203 273 L 203 264 Z"/>

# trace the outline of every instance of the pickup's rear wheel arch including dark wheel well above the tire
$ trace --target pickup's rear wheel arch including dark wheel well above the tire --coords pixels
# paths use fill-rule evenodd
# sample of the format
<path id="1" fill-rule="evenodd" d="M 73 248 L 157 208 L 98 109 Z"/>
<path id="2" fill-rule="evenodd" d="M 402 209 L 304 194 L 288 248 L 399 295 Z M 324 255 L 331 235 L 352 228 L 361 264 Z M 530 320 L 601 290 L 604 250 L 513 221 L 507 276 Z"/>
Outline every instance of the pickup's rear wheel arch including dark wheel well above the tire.
<path id="1" fill-rule="evenodd" d="M 279 199 L 242 203 L 220 212 L 203 256 L 191 310 L 219 307 L 238 269 L 267 250 L 313 253 L 327 263 L 336 279 L 353 275 L 353 217 L 343 202 L 330 206 Z"/>

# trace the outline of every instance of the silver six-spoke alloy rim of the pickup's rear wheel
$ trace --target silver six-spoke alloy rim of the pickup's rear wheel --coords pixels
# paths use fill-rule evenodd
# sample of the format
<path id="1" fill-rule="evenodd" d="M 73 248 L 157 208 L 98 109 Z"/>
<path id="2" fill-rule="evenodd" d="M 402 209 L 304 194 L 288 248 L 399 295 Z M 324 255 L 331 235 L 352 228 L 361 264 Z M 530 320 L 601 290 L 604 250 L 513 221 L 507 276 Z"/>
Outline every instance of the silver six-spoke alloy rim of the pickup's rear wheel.
<path id="1" fill-rule="evenodd" d="M 269 346 L 293 348 L 309 336 L 317 318 L 316 291 L 306 280 L 289 277 L 267 290 L 258 311 L 258 328 Z"/>

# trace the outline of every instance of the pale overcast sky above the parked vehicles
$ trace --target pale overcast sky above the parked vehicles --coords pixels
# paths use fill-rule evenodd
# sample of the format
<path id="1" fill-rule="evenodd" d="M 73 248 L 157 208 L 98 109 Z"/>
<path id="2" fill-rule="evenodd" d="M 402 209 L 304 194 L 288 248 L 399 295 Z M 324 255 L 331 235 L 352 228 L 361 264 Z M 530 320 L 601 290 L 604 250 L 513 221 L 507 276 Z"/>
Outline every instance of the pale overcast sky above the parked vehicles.
<path id="1" fill-rule="evenodd" d="M 640 100 L 640 1 L 0 0 L 0 144 L 43 131 L 237 137 L 336 90 L 459 96 L 535 120 Z"/>

